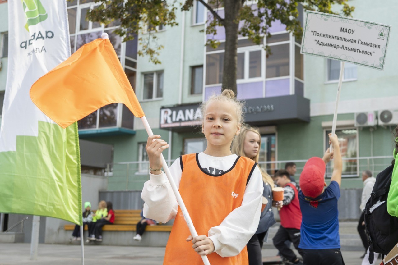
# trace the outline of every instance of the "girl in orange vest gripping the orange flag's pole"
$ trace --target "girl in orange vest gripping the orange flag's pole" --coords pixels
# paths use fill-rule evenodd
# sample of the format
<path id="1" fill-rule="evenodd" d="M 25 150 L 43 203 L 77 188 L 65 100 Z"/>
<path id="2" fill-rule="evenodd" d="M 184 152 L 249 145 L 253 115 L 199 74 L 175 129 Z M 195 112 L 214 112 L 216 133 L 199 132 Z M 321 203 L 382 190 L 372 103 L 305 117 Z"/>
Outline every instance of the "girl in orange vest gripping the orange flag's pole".
<path id="1" fill-rule="evenodd" d="M 190 236 L 161 170 L 160 154 L 169 146 L 159 135 L 146 144 L 150 180 L 142 190 L 144 216 L 163 223 L 175 218 L 164 264 L 203 264 L 199 255 L 207 255 L 211 264 L 247 265 L 246 244 L 258 227 L 263 185 L 257 163 L 230 150 L 242 128 L 242 103 L 224 90 L 201 107 L 206 150 L 180 156 L 170 167 L 199 236 Z"/>

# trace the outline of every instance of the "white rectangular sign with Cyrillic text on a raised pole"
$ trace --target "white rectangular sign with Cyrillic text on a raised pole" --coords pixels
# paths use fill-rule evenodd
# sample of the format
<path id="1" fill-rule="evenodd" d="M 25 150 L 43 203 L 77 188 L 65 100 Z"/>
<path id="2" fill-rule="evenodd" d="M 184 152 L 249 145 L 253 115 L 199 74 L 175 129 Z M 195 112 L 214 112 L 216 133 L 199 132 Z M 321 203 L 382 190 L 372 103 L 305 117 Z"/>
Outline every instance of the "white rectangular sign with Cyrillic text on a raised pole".
<path id="1" fill-rule="evenodd" d="M 390 26 L 307 11 L 301 53 L 383 70 Z"/>

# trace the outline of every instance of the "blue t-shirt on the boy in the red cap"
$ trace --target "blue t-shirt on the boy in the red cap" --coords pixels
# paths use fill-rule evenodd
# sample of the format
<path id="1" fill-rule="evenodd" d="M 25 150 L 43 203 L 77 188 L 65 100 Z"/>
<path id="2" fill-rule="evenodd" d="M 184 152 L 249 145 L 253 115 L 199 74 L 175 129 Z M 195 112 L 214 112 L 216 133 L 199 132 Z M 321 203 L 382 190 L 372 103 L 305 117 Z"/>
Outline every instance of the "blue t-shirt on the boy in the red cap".
<path id="1" fill-rule="evenodd" d="M 315 199 L 306 198 L 298 192 L 302 213 L 301 239 L 298 247 L 302 249 L 340 248 L 339 211 L 337 201 L 340 187 L 331 181 L 324 193 Z"/>

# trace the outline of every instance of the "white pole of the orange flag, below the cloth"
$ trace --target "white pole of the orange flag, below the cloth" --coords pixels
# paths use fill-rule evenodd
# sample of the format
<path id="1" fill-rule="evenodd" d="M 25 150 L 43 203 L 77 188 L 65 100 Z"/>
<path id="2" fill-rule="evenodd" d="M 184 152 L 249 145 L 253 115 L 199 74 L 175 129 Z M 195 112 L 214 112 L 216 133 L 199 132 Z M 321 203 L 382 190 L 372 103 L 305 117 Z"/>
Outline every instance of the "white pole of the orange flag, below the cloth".
<path id="1" fill-rule="evenodd" d="M 152 136 L 153 135 L 152 129 L 150 129 L 150 126 L 149 126 L 148 121 L 146 120 L 146 117 L 145 116 L 141 117 L 141 121 L 142 121 L 142 123 L 144 123 L 144 127 L 146 130 L 146 133 L 148 133 L 148 136 Z M 195 230 L 195 227 L 192 224 L 192 220 L 188 214 L 187 208 L 185 207 L 185 204 L 182 201 L 182 198 L 181 198 L 181 195 L 179 194 L 176 183 L 174 183 L 174 179 L 170 173 L 169 167 L 167 166 L 167 163 L 166 163 L 166 160 L 164 159 L 163 154 L 161 154 L 161 158 L 162 158 L 162 166 L 164 169 L 164 173 L 166 173 L 166 176 L 170 183 L 170 186 L 172 187 L 172 189 L 174 191 L 174 195 L 176 195 L 176 199 L 177 199 L 179 208 L 181 209 L 181 212 L 184 216 L 185 222 L 187 222 L 189 232 L 191 232 L 192 237 L 196 237 L 196 236 L 198 236 L 198 234 Z M 205 263 L 205 265 L 210 265 L 210 262 L 209 262 L 209 259 L 207 259 L 207 256 L 203 255 L 201 257 L 202 257 L 203 263 Z"/>

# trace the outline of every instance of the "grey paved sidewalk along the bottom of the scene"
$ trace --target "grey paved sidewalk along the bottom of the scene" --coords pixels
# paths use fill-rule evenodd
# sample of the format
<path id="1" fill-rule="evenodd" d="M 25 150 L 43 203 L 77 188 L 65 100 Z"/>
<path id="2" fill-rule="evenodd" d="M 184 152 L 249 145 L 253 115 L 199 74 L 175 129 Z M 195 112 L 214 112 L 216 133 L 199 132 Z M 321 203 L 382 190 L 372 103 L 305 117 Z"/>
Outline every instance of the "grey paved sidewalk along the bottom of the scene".
<path id="1" fill-rule="evenodd" d="M 276 249 L 263 249 L 263 257 L 275 256 Z M 342 250 L 346 265 L 360 265 L 362 251 Z M 0 265 L 79 265 L 80 245 L 39 244 L 36 261 L 29 259 L 30 244 L 0 243 Z M 161 265 L 164 247 L 84 246 L 85 265 Z M 375 265 L 378 265 L 375 263 Z"/>

